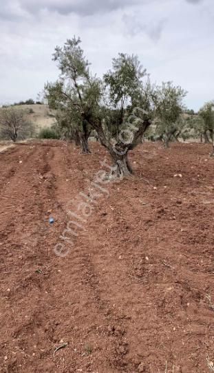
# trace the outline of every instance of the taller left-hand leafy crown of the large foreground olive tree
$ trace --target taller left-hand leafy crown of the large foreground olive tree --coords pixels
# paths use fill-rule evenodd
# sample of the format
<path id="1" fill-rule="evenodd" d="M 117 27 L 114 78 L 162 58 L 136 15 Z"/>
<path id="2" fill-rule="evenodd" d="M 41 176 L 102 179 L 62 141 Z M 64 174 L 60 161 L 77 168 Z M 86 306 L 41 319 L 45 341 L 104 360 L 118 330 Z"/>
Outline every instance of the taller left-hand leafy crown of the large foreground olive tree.
<path id="1" fill-rule="evenodd" d="M 63 48 L 56 47 L 54 61 L 61 75 L 55 83 L 45 85 L 45 97 L 50 108 L 65 113 L 70 125 L 81 130 L 85 117 L 96 112 L 101 97 L 101 82 L 89 75 L 89 63 L 80 47 L 81 40 L 67 40 Z"/>

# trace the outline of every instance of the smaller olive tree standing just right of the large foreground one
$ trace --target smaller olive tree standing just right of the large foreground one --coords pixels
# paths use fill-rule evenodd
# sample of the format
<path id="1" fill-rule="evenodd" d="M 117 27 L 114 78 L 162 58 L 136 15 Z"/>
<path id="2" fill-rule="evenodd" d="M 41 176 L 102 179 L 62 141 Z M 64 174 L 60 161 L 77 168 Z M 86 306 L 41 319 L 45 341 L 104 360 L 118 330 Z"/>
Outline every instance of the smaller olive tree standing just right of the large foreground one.
<path id="1" fill-rule="evenodd" d="M 178 139 L 183 127 L 181 114 L 184 110 L 182 100 L 186 92 L 172 82 L 162 83 L 156 90 L 157 132 L 169 147 L 171 139 Z"/>

